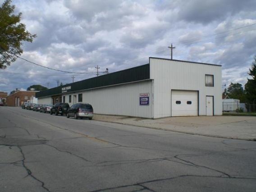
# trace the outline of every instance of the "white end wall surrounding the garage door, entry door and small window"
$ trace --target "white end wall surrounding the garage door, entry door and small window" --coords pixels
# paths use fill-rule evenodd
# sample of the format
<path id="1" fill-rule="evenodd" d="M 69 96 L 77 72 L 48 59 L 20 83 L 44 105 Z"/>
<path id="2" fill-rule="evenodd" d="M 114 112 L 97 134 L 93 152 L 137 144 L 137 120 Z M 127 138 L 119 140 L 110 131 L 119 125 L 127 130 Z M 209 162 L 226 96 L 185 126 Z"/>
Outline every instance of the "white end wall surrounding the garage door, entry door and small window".
<path id="1" fill-rule="evenodd" d="M 214 75 L 214 87 L 205 86 L 205 75 Z M 221 67 L 150 58 L 154 79 L 154 118 L 171 116 L 171 90 L 199 91 L 199 115 L 206 115 L 206 96 L 214 96 L 214 114 L 222 114 Z"/>

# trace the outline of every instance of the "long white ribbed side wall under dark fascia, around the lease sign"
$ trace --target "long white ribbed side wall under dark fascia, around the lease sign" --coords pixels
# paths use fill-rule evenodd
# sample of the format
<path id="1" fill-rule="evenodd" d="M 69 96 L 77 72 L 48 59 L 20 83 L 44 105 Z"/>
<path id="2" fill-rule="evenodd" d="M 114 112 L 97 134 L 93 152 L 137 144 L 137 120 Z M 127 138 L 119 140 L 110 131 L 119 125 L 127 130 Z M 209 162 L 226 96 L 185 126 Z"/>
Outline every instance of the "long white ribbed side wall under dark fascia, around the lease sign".
<path id="1" fill-rule="evenodd" d="M 82 102 L 90 103 L 96 114 L 115 114 L 134 117 L 152 118 L 152 80 L 127 83 L 123 85 L 110 86 L 105 88 L 66 93 L 65 101 L 69 103 L 69 95 L 73 105 L 73 95 L 82 93 Z M 139 94 L 149 93 L 149 105 L 139 105 Z"/>

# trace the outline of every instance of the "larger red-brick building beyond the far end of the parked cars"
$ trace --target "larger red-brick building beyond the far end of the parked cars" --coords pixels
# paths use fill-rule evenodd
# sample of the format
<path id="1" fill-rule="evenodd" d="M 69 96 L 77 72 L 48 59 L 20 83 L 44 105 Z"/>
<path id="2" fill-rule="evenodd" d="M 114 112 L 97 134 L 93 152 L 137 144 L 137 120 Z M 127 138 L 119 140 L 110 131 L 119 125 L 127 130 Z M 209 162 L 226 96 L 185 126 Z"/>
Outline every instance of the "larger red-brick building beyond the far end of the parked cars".
<path id="1" fill-rule="evenodd" d="M 17 91 L 7 96 L 7 106 L 20 107 L 24 102 L 31 101 L 35 98 L 36 92 L 38 91 Z"/>

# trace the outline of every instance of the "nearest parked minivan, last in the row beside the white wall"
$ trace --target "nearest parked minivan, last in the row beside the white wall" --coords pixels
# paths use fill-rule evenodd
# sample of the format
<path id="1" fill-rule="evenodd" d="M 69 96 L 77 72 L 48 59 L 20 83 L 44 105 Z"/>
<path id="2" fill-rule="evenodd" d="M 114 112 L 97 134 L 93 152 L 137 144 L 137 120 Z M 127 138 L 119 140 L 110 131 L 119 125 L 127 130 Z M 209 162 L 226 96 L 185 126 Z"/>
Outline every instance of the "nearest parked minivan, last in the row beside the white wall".
<path id="1" fill-rule="evenodd" d="M 77 103 L 72 105 L 69 110 L 67 111 L 67 118 L 74 117 L 75 119 L 78 118 L 88 118 L 92 119 L 93 117 L 93 108 L 88 103 Z"/>

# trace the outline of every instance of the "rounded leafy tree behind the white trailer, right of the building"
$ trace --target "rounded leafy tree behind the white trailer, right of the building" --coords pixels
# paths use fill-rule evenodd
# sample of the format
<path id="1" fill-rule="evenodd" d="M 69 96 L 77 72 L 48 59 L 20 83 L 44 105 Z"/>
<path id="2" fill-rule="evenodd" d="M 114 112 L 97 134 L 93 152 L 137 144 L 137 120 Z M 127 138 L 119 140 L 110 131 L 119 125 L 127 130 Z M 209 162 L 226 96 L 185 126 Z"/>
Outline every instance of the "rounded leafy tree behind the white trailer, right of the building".
<path id="1" fill-rule="evenodd" d="M 240 102 L 245 101 L 245 95 L 241 83 L 232 83 L 227 89 L 227 95 L 230 99 L 239 99 Z"/>

